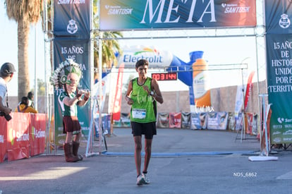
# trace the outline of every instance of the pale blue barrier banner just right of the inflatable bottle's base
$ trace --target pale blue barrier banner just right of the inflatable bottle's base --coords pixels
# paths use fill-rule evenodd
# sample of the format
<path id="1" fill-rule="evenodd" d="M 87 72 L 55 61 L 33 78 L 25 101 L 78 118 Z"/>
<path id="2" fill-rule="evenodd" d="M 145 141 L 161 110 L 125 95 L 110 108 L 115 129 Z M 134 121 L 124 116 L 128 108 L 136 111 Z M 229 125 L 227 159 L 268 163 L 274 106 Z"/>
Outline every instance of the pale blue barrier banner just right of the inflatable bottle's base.
<path id="1" fill-rule="evenodd" d="M 228 121 L 227 112 L 209 112 L 207 114 L 207 129 L 226 130 Z"/>

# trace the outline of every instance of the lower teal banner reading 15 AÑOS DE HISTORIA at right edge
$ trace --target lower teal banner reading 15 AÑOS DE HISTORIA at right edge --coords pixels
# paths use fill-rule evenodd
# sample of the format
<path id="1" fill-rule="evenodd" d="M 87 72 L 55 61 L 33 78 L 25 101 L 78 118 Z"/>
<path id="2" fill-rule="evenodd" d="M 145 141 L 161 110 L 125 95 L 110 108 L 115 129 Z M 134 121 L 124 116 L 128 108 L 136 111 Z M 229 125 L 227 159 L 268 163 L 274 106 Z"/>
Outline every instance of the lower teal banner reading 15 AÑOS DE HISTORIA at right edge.
<path id="1" fill-rule="evenodd" d="M 292 143 L 292 35 L 266 35 L 271 143 Z"/>

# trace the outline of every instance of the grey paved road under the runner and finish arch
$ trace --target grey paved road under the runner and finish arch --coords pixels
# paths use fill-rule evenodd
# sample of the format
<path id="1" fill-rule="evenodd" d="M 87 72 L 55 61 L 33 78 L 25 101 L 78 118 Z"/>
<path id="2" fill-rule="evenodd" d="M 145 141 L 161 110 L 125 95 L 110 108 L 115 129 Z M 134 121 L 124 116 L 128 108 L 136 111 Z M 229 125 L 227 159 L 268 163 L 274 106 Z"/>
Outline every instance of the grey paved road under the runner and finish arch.
<path id="1" fill-rule="evenodd" d="M 238 135 L 241 138 L 241 135 Z M 250 138 L 247 136 L 247 138 Z M 150 185 L 135 185 L 133 138 L 115 128 L 108 151 L 93 147 L 82 162 L 66 163 L 62 150 L 0 163 L 2 193 L 289 193 L 291 150 L 273 150 L 276 161 L 250 162 L 258 140 L 236 140 L 226 131 L 159 129 L 150 161 Z M 98 144 L 95 142 L 95 144 Z M 86 147 L 80 149 L 85 153 Z M 97 150 L 97 151 L 95 151 Z"/>

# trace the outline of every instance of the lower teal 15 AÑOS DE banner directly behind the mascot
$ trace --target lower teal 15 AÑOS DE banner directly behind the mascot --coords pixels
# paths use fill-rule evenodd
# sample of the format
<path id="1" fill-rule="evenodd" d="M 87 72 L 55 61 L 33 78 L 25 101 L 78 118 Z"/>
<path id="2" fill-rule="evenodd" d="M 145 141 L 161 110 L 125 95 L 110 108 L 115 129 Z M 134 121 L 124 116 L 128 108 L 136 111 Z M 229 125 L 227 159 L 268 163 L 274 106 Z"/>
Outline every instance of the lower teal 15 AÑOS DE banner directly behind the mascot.
<path id="1" fill-rule="evenodd" d="M 66 59 L 73 59 L 80 65 L 83 75 L 78 90 L 90 90 L 90 40 L 75 40 L 71 38 L 54 39 L 54 69 Z M 66 134 L 63 134 L 63 116 L 59 105 L 59 95 L 63 90 L 54 90 L 55 136 L 56 145 L 63 145 Z M 78 107 L 78 119 L 83 134 L 87 135 L 90 126 L 90 103 Z"/>

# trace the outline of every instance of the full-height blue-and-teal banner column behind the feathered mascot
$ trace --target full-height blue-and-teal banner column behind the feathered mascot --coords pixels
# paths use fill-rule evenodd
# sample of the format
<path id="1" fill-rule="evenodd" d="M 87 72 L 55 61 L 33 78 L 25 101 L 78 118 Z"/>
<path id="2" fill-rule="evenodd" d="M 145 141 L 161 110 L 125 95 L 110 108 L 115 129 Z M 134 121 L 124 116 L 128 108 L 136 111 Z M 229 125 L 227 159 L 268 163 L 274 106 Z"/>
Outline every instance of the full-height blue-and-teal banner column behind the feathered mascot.
<path id="1" fill-rule="evenodd" d="M 79 64 L 83 76 L 78 90 L 90 90 L 90 0 L 54 0 L 54 69 L 66 59 Z M 54 91 L 56 145 L 63 145 L 63 116 L 59 104 L 62 89 Z M 78 120 L 87 135 L 91 117 L 90 103 L 78 107 Z"/>

